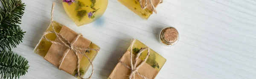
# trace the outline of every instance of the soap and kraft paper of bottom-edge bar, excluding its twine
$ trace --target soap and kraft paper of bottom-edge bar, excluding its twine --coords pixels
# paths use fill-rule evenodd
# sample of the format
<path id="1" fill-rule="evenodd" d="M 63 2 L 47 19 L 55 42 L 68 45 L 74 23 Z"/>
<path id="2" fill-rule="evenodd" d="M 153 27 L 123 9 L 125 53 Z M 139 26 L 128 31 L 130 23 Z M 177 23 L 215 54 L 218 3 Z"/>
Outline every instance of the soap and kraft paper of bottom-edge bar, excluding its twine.
<path id="1" fill-rule="evenodd" d="M 112 73 L 110 74 L 108 79 L 128 79 L 129 75 L 131 74 L 131 69 L 127 68 L 124 65 L 131 66 L 131 60 L 130 60 L 130 54 L 131 52 L 134 54 L 133 59 L 139 54 L 141 48 L 148 48 L 145 44 L 140 42 L 139 40 L 133 40 L 132 42 L 133 46 L 130 46 L 126 53 L 122 56 L 122 58 L 119 60 L 121 62 L 117 63 L 116 67 L 113 69 Z M 132 48 L 131 48 L 132 47 Z M 150 48 L 149 48 L 150 49 Z M 138 72 L 150 79 L 154 79 L 157 76 L 157 73 L 161 70 L 163 65 L 166 62 L 166 59 L 163 56 L 160 56 L 152 49 L 149 50 L 150 54 L 148 56 L 148 59 L 146 60 L 146 63 L 144 63 L 140 68 L 138 68 Z M 142 60 L 145 59 L 145 57 L 148 54 L 148 50 L 143 51 L 137 60 L 137 66 L 142 62 Z M 135 60 L 134 60 L 135 62 Z M 134 63 L 133 62 L 133 63 Z M 143 77 L 135 74 L 134 76 L 136 79 L 144 79 Z"/>

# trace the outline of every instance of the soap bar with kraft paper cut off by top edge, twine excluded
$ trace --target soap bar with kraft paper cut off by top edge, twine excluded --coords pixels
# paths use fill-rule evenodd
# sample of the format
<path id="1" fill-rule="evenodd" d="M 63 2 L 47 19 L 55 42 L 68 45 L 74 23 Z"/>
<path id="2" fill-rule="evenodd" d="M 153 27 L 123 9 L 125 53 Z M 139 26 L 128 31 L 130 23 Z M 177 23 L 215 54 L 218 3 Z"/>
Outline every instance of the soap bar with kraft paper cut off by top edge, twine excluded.
<path id="1" fill-rule="evenodd" d="M 125 5 L 127 8 L 129 8 L 131 11 L 139 15 L 144 20 L 147 20 L 148 17 L 153 13 L 153 9 L 151 8 L 149 1 L 147 1 L 148 6 L 144 10 L 141 8 L 138 0 L 118 0 L 118 1 L 123 5 Z M 152 3 L 156 7 L 160 3 L 160 0 L 153 0 Z M 142 5 L 143 6 L 145 5 L 145 0 L 142 0 Z"/>

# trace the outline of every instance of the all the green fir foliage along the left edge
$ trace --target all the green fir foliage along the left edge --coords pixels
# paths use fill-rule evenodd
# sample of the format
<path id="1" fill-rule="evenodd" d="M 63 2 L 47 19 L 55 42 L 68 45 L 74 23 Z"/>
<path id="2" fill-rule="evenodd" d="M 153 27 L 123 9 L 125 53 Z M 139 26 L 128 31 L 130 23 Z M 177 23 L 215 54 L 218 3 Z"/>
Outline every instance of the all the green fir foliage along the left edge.
<path id="1" fill-rule="evenodd" d="M 14 54 L 15 48 L 25 32 L 19 25 L 24 14 L 25 5 L 21 0 L 0 0 L 0 79 L 17 79 L 28 71 L 28 61 Z M 9 49 L 9 51 L 5 51 Z"/>

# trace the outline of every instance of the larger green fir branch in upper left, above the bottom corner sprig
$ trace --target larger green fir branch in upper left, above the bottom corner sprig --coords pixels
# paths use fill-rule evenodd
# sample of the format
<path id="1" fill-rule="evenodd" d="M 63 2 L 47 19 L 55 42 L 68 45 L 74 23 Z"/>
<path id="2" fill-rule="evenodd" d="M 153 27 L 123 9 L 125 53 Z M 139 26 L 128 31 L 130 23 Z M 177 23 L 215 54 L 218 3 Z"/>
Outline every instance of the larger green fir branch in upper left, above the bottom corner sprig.
<path id="1" fill-rule="evenodd" d="M 25 32 L 20 29 L 20 19 L 24 14 L 25 5 L 21 0 L 1 0 L 3 8 L 0 8 L 0 47 L 16 47 Z"/>

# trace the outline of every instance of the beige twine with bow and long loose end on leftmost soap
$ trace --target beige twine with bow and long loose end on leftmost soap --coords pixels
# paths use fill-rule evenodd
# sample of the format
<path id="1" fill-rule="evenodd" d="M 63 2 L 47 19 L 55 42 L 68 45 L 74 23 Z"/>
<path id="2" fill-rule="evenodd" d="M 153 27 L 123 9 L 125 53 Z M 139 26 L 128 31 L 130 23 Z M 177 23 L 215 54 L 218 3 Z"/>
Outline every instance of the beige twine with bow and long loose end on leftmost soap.
<path id="1" fill-rule="evenodd" d="M 59 63 L 59 65 L 58 65 L 58 69 L 61 70 L 60 67 L 61 67 L 61 65 L 62 65 L 62 62 L 64 61 L 64 59 L 65 59 L 65 57 L 67 56 L 68 52 L 69 52 L 70 50 L 72 50 L 72 51 L 74 51 L 74 53 L 75 53 L 76 56 L 77 56 L 77 75 L 78 75 L 81 79 L 84 79 L 84 78 L 81 77 L 80 71 L 79 71 L 79 70 L 80 70 L 79 54 L 82 54 L 83 56 L 85 56 L 85 57 L 89 60 L 90 65 L 92 65 L 92 73 L 90 74 L 90 76 L 89 76 L 87 79 L 90 79 L 90 78 L 93 76 L 93 71 L 94 71 L 93 63 L 92 63 L 92 61 L 90 60 L 90 58 L 89 58 L 86 54 L 82 53 L 82 52 L 79 51 L 79 50 L 82 50 L 82 51 L 93 50 L 93 51 L 97 51 L 97 52 L 98 52 L 99 49 L 94 49 L 94 48 L 81 48 L 81 47 L 74 46 L 74 43 L 78 40 L 79 37 L 82 36 L 81 34 L 78 34 L 78 35 L 76 36 L 76 39 L 75 39 L 75 40 L 73 40 L 72 42 L 69 42 L 69 41 L 68 41 L 67 39 L 65 39 L 61 34 L 57 33 L 57 32 L 55 31 L 55 29 L 54 29 L 54 26 L 53 26 L 53 11 L 54 11 L 54 6 L 55 6 L 55 2 L 52 3 L 52 11 L 51 11 L 51 24 L 52 24 L 52 29 L 53 29 L 53 31 L 47 31 L 47 32 L 45 32 L 44 35 L 43 35 L 43 37 L 44 37 L 45 40 L 47 40 L 47 41 L 49 41 L 49 42 L 52 42 L 53 44 L 62 45 L 62 46 L 64 46 L 64 47 L 67 47 L 67 50 L 64 52 L 64 56 L 61 57 L 60 63 Z M 51 33 L 55 34 L 55 35 L 57 36 L 57 38 L 60 40 L 60 42 L 55 42 L 55 41 L 52 41 L 52 40 L 47 39 L 47 38 L 46 38 L 46 35 L 47 35 L 47 34 L 51 34 Z M 63 40 L 64 40 L 65 42 L 64 42 Z"/>

